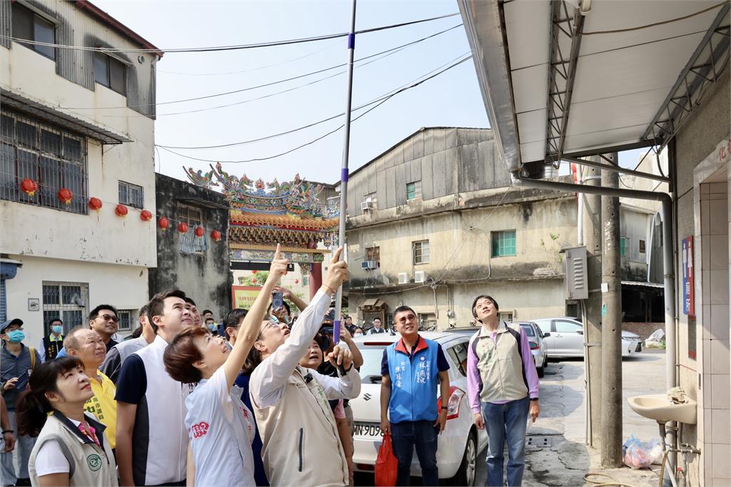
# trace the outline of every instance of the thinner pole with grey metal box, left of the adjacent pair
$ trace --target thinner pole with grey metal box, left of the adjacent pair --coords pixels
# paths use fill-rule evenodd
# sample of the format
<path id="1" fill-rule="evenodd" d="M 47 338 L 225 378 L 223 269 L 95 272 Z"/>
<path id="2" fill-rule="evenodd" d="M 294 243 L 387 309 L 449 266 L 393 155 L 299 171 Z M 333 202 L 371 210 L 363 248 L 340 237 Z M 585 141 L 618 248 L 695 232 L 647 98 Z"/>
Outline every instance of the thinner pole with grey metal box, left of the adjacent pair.
<path id="1" fill-rule="evenodd" d="M 587 157 L 590 161 L 599 161 L 597 156 Z M 599 186 L 601 169 L 582 166 L 583 184 Z M 602 196 L 579 193 L 583 197 L 583 237 L 586 245 L 586 275 L 589 297 L 584 302 L 584 342 L 586 356 L 584 367 L 588 374 L 586 386 L 586 407 L 588 408 L 587 439 L 590 446 L 602 442 Z"/>

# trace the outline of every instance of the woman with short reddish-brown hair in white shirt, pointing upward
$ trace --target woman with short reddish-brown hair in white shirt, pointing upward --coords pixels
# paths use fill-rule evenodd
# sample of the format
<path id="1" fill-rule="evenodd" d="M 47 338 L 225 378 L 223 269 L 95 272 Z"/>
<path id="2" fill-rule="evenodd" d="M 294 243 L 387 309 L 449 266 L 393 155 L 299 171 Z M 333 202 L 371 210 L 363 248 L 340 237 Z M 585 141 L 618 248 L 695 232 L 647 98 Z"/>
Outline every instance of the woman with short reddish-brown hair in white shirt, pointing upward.
<path id="1" fill-rule="evenodd" d="M 287 273 L 287 259 L 274 255 L 267 281 L 243 318 L 230 350 L 221 337 L 200 326 L 176 335 L 164 353 L 170 377 L 182 383 L 198 383 L 186 399 L 185 426 L 190 437 L 189 475 L 194 465 L 196 487 L 255 486 L 251 442 L 254 418 L 241 401 L 234 381 L 257 339 L 269 296 L 280 277 Z"/>

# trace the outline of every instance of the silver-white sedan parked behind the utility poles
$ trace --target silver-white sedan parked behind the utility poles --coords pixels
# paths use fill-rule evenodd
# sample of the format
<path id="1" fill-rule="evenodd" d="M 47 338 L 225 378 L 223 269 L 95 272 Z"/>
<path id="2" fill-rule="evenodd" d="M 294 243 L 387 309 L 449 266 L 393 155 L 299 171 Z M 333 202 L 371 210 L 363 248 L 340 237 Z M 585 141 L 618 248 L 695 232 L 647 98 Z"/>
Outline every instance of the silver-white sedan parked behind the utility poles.
<path id="1" fill-rule="evenodd" d="M 550 333 L 545 342 L 551 358 L 583 357 L 583 325 L 575 318 L 539 318 L 534 320 L 544 334 Z M 642 351 L 640 335 L 632 331 L 622 331 L 622 356 Z"/>

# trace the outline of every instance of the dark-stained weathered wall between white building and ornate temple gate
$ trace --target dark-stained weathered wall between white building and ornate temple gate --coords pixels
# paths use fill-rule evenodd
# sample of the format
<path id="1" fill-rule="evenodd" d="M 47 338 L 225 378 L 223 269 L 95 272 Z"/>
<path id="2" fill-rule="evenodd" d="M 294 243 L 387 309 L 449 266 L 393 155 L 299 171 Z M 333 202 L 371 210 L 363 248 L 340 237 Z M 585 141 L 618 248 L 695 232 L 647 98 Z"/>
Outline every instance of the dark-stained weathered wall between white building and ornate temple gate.
<path id="1" fill-rule="evenodd" d="M 228 203 L 221 193 L 199 188 L 191 183 L 156 174 L 157 213 L 170 218 L 170 229 L 159 232 L 157 267 L 150 269 L 150 294 L 168 288 L 180 288 L 194 299 L 202 311 L 213 311 L 219 320 L 231 307 L 233 277 L 227 247 Z M 178 204 L 197 207 L 202 213 L 203 238 L 208 250 L 202 253 L 181 252 Z M 213 242 L 211 230 L 221 232 L 221 242 Z M 189 229 L 192 232 L 194 229 Z"/>

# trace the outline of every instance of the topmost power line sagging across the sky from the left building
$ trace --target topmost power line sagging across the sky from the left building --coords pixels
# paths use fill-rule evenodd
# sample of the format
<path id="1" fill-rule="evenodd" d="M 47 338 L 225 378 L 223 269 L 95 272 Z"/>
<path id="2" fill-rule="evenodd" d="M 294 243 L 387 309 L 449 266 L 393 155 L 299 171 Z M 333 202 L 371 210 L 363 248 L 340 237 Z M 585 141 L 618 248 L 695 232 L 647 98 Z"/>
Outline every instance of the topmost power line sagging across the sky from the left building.
<path id="1" fill-rule="evenodd" d="M 452 14 L 439 15 L 438 17 L 425 18 L 425 19 L 421 19 L 421 20 L 411 20 L 409 22 L 402 22 L 402 23 L 395 23 L 390 26 L 366 28 L 361 31 L 356 31 L 355 34 L 368 34 L 371 32 L 385 31 L 390 28 L 413 26 L 414 24 L 417 24 L 417 23 L 431 22 L 432 20 L 450 18 L 450 17 L 454 17 L 455 15 L 460 15 L 460 14 L 459 14 L 459 12 L 455 12 Z M 346 37 L 347 35 L 348 35 L 347 32 L 342 32 L 340 34 L 327 34 L 324 36 L 315 36 L 315 37 L 300 37 L 298 39 L 287 39 L 287 40 L 272 41 L 272 42 L 257 42 L 254 44 L 238 44 L 238 45 L 215 46 L 215 47 L 181 47 L 181 48 L 170 48 L 170 49 L 158 49 L 158 48 L 155 48 L 155 49 L 124 49 L 124 48 L 107 48 L 107 47 L 88 47 L 88 46 L 77 46 L 77 45 L 68 45 L 68 44 L 56 44 L 53 42 L 31 41 L 31 40 L 27 40 L 27 39 L 18 39 L 17 37 L 12 37 L 12 36 L 0 36 L 0 39 L 10 39 L 15 42 L 20 42 L 20 43 L 29 44 L 29 45 L 58 47 L 59 49 L 94 51 L 94 52 L 98 52 L 98 53 L 159 53 L 162 51 L 163 53 L 167 54 L 167 53 L 210 53 L 213 51 L 255 49 L 255 48 L 259 48 L 259 47 L 274 47 L 274 46 L 301 44 L 303 42 L 314 42 L 314 41 L 323 41 L 323 40 L 327 40 L 327 39 L 336 39 L 338 37 Z"/>

